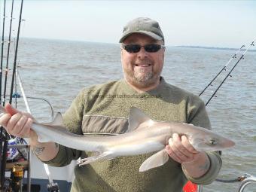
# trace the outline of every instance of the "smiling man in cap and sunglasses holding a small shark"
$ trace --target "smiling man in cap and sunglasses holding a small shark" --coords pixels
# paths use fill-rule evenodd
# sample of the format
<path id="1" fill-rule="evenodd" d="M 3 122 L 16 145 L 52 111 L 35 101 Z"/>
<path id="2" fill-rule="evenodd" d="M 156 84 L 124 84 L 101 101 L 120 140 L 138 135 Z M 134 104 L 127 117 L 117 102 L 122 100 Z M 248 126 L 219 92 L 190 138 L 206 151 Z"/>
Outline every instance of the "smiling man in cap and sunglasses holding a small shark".
<path id="1" fill-rule="evenodd" d="M 203 102 L 191 93 L 167 84 L 160 76 L 164 37 L 159 24 L 149 18 L 130 21 L 120 38 L 124 79 L 86 88 L 72 102 L 63 119 L 72 133 L 125 133 L 132 106 L 154 120 L 193 123 L 210 127 Z M 30 130 L 32 117 L 6 106 L 10 114 L 0 124 L 14 136 L 29 136 L 33 151 L 44 163 L 65 166 L 90 153 L 53 142 L 39 143 Z M 118 157 L 75 167 L 72 191 L 181 191 L 189 179 L 197 184 L 214 181 L 221 169 L 218 152 L 196 151 L 186 136 L 173 134 L 166 146 L 169 162 L 147 172 L 139 166 L 152 155 Z"/>

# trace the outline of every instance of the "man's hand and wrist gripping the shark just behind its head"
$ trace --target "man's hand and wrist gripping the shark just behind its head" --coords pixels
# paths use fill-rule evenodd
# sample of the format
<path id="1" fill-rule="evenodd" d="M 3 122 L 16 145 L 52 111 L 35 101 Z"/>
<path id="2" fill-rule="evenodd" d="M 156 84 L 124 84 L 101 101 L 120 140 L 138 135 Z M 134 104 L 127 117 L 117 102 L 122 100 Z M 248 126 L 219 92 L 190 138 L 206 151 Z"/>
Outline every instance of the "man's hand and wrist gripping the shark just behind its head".
<path id="1" fill-rule="evenodd" d="M 180 137 L 174 133 L 169 139 L 169 145 L 166 145 L 166 152 L 173 160 L 181 163 L 187 173 L 194 178 L 199 178 L 209 169 L 209 157 L 205 152 L 194 149 L 186 136 Z"/>

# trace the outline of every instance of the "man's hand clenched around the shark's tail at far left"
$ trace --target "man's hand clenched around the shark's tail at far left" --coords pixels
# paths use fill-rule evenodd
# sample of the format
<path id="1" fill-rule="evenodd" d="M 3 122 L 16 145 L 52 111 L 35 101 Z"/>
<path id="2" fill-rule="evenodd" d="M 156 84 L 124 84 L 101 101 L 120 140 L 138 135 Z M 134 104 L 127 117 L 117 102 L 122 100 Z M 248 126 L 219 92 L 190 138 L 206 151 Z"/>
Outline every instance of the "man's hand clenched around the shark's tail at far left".
<path id="1" fill-rule="evenodd" d="M 0 117 L 0 125 L 5 127 L 5 130 L 12 136 L 18 137 L 36 137 L 34 131 L 31 130 L 33 117 L 31 114 L 18 111 L 10 104 L 5 105 L 7 114 Z"/>

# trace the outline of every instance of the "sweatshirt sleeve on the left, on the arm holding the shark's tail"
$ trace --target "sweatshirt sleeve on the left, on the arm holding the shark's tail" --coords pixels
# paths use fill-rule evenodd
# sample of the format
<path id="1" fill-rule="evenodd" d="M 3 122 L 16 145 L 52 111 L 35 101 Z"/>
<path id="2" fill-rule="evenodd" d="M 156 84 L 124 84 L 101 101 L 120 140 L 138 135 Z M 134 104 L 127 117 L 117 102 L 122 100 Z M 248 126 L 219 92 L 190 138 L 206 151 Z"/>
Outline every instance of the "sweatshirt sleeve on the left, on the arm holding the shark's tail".
<path id="1" fill-rule="evenodd" d="M 66 129 L 78 135 L 83 134 L 81 123 L 84 115 L 85 95 L 87 95 L 86 91 L 82 90 L 62 116 L 63 124 L 66 126 Z M 66 166 L 71 163 L 72 160 L 78 160 L 79 157 L 81 157 L 81 151 L 59 145 L 59 152 L 56 154 L 56 157 L 44 163 L 50 166 Z"/>

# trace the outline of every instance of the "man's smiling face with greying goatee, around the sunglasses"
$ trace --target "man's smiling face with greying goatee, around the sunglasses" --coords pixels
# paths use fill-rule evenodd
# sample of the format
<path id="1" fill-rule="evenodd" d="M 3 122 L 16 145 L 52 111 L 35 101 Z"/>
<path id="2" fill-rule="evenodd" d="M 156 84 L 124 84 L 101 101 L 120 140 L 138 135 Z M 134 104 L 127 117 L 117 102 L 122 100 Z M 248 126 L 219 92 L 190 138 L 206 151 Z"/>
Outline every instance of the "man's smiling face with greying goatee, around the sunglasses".
<path id="1" fill-rule="evenodd" d="M 135 33 L 129 35 L 123 44 L 163 44 L 163 41 L 154 40 L 147 35 Z M 124 78 L 128 83 L 138 88 L 146 88 L 158 84 L 160 73 L 163 69 L 164 48 L 155 53 L 147 52 L 141 47 L 138 53 L 129 53 L 121 50 L 121 62 L 123 66 Z"/>

